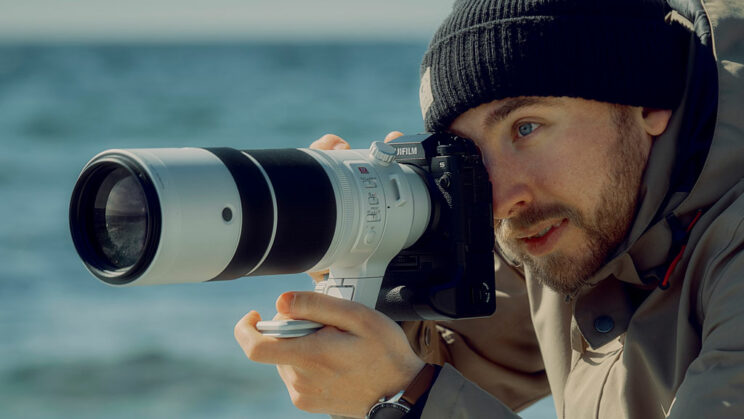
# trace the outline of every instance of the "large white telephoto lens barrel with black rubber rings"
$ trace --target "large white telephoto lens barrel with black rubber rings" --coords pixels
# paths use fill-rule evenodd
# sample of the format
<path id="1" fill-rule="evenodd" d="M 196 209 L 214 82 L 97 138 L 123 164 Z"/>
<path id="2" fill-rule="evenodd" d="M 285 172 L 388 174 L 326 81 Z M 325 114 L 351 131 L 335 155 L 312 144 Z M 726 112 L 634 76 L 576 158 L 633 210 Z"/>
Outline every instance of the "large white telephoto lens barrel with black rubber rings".
<path id="1" fill-rule="evenodd" d="M 381 278 L 431 214 L 422 175 L 389 153 L 105 151 L 73 191 L 73 241 L 86 267 L 117 286 L 329 267 Z"/>

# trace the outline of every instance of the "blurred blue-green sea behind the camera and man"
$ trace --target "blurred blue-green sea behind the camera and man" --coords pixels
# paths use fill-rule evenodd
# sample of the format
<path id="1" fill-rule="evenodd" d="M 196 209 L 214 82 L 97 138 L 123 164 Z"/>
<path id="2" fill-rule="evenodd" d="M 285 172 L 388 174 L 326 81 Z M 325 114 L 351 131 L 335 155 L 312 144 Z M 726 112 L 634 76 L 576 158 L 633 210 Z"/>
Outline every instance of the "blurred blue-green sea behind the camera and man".
<path id="1" fill-rule="evenodd" d="M 233 326 L 305 275 L 112 288 L 68 232 L 108 148 L 366 148 L 421 130 L 426 43 L 0 46 L 0 417 L 310 418 Z M 525 417 L 555 417 L 551 399 Z"/>

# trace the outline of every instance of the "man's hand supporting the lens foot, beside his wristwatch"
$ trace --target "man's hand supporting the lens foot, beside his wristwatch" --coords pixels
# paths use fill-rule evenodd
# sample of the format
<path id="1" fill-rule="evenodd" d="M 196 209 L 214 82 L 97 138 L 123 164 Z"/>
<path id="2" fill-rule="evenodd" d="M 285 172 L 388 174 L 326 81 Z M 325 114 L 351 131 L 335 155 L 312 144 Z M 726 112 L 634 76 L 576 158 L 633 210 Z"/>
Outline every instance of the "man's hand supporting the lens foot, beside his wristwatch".
<path id="1" fill-rule="evenodd" d="M 256 330 L 251 311 L 235 325 L 246 356 L 276 364 L 292 403 L 312 413 L 363 418 L 382 396 L 406 388 L 424 362 L 400 327 L 362 304 L 314 292 L 284 293 L 276 301 L 281 318 L 326 326 L 301 338 L 277 339 Z"/>

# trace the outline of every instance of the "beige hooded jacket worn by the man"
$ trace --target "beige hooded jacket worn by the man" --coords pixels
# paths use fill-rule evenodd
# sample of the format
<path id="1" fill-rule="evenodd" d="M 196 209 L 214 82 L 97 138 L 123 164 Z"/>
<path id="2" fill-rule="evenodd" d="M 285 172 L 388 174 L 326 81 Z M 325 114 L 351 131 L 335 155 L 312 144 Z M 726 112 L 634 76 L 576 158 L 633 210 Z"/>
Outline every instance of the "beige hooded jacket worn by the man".
<path id="1" fill-rule="evenodd" d="M 576 298 L 497 263 L 492 317 L 405 324 L 422 358 L 450 364 L 424 418 L 512 417 L 548 394 L 560 418 L 744 418 L 744 3 L 689 3 L 672 16 L 697 33 L 686 96 L 654 144 L 625 250 Z M 712 79 L 700 42 L 714 46 Z M 705 131 L 706 86 L 718 109 L 712 141 L 698 137 L 704 165 L 684 163 L 691 191 L 668 194 L 685 135 Z M 699 211 L 672 265 L 673 221 L 684 232 Z"/>

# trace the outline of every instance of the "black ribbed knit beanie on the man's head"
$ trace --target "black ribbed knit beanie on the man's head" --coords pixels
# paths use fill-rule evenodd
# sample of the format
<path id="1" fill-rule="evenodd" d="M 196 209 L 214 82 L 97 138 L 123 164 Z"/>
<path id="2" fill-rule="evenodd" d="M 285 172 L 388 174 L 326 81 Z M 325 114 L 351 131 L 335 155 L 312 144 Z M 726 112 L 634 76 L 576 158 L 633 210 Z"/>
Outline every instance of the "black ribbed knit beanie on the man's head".
<path id="1" fill-rule="evenodd" d="M 426 129 L 516 96 L 674 109 L 690 33 L 669 11 L 661 0 L 457 0 L 421 64 Z"/>

